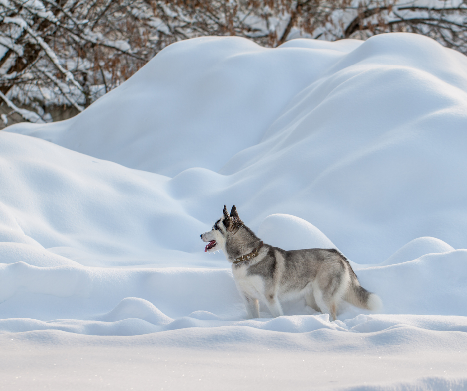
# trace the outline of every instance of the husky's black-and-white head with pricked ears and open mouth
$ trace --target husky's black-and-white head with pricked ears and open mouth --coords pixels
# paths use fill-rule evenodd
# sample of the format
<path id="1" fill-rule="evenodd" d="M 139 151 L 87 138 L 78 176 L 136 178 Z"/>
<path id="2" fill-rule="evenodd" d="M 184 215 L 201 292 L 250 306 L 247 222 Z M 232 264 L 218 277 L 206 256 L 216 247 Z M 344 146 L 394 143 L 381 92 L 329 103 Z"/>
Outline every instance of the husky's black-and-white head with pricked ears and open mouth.
<path id="1" fill-rule="evenodd" d="M 213 252 L 217 250 L 223 250 L 225 252 L 225 245 L 228 236 L 241 224 L 240 217 L 237 213 L 235 205 L 232 206 L 232 210 L 229 214 L 226 205 L 222 211 L 222 217 L 217 220 L 211 231 L 201 234 L 201 240 L 203 242 L 209 242 L 204 248 L 205 252 Z"/>

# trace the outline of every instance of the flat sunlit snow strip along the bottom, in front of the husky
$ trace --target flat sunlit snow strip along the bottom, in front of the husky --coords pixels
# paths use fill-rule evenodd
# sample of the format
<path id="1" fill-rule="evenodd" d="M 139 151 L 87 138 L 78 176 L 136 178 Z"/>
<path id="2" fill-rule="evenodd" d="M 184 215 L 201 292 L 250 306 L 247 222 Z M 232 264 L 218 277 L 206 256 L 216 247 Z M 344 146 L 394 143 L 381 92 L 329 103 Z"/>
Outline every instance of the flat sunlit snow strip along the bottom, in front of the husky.
<path id="1" fill-rule="evenodd" d="M 462 331 L 409 324 L 373 333 L 238 326 L 187 331 L 118 338 L 57 330 L 3 334 L 1 351 L 9 356 L 0 369 L 2 382 L 23 390 L 462 391 L 467 386 Z"/>

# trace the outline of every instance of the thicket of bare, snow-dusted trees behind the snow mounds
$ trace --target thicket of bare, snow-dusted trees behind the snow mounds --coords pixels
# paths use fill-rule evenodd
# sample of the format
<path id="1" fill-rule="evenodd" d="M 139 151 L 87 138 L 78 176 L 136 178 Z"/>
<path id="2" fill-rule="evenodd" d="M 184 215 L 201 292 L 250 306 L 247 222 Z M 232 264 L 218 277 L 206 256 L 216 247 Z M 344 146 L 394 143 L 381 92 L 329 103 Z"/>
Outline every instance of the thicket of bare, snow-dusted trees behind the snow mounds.
<path id="1" fill-rule="evenodd" d="M 276 47 L 408 31 L 467 54 L 466 12 L 465 0 L 0 0 L 1 118 L 76 114 L 167 45 L 199 36 Z"/>

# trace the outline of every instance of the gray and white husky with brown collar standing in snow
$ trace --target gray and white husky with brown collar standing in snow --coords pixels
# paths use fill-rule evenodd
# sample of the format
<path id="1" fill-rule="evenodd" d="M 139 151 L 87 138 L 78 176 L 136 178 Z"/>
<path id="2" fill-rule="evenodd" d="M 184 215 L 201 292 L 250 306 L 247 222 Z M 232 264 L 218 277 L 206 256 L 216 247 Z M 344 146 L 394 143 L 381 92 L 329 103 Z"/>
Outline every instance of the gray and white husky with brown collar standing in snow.
<path id="1" fill-rule="evenodd" d="M 284 315 L 280 300 L 305 298 L 316 311 L 336 319 L 342 301 L 368 310 L 381 307 L 380 298 L 362 288 L 349 261 L 335 249 L 286 251 L 265 244 L 224 205 L 223 216 L 211 231 L 205 252 L 222 250 L 229 262 L 248 316 L 259 318 L 259 301 L 273 317 Z"/>

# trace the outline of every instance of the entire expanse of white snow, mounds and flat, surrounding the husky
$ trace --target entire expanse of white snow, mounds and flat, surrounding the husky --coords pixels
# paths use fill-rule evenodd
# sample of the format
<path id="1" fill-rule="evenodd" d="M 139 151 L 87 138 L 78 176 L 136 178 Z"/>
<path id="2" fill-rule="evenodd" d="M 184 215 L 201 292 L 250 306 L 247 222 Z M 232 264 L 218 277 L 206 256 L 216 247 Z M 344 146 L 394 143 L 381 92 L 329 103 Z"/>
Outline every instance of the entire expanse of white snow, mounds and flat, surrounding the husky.
<path id="1" fill-rule="evenodd" d="M 0 389 L 465 390 L 467 58 L 411 34 L 182 41 L 0 133 Z M 226 204 L 384 307 L 246 320 Z"/>

